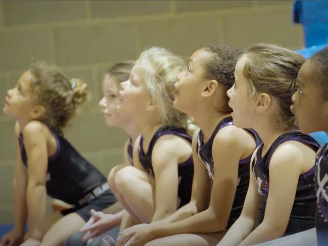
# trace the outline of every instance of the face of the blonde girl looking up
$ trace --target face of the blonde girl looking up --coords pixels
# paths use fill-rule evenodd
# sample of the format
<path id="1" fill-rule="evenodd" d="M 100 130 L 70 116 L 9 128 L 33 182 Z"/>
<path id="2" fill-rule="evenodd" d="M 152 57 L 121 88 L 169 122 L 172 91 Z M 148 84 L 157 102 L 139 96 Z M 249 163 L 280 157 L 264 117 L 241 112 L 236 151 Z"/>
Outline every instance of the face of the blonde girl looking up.
<path id="1" fill-rule="evenodd" d="M 145 84 L 145 68 L 135 65 L 130 73 L 130 78 L 121 83 L 122 90 L 118 108 L 131 115 L 138 115 L 147 109 L 150 96 Z"/>

